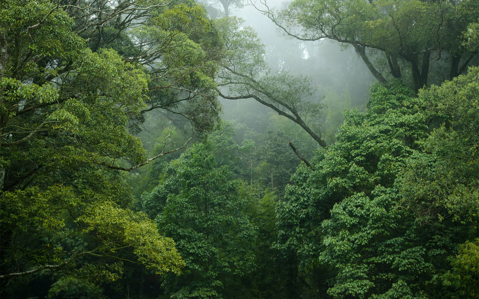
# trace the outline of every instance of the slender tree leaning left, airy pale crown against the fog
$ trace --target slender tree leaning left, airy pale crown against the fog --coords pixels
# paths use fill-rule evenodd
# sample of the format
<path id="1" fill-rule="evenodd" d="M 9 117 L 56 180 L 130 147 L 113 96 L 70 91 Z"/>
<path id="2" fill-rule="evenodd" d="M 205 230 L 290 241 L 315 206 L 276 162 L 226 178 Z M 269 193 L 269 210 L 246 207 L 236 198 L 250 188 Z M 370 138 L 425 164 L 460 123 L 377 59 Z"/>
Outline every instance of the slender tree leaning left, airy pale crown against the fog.
<path id="1" fill-rule="evenodd" d="M 315 90 L 309 79 L 281 72 L 271 74 L 264 61 L 263 45 L 251 28 L 243 28 L 242 22 L 238 18 L 216 22 L 225 50 L 218 75 L 219 95 L 230 100 L 254 99 L 299 124 L 325 147 L 321 134 L 311 128 L 324 107 L 313 100 Z M 233 95 L 224 94 L 223 89 Z"/>

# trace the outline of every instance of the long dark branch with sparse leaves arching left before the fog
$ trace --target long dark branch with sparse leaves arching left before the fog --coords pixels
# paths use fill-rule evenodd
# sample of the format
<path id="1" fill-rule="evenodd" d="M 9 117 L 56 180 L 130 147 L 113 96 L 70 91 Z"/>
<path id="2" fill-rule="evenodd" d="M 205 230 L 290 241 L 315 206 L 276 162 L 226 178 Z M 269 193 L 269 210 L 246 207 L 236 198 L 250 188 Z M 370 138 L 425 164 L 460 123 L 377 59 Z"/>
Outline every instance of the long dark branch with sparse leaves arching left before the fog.
<path id="1" fill-rule="evenodd" d="M 238 25 L 235 24 L 237 28 Z M 235 34 L 227 32 L 228 34 Z M 243 36 L 237 32 L 240 38 L 245 38 L 249 44 L 257 44 L 255 34 Z M 225 40 L 229 40 L 225 38 Z M 250 52 L 248 52 L 250 51 Z M 251 47 L 248 54 L 243 55 L 241 49 L 232 49 L 228 57 L 219 64 L 222 72 L 218 76 L 220 82 L 217 84 L 218 95 L 228 100 L 254 99 L 260 104 L 267 106 L 279 115 L 296 122 L 301 126 L 318 144 L 326 147 L 326 142 L 321 135 L 313 132 L 306 123 L 306 118 L 316 118 L 322 114 L 319 103 L 306 101 L 306 98 L 314 95 L 314 88 L 311 87 L 308 78 L 302 76 L 294 77 L 288 73 L 277 73 L 269 75 L 270 70 L 261 59 L 257 64 L 237 65 L 239 61 L 248 60 L 251 57 L 259 57 L 263 53 L 262 47 Z M 256 59 L 256 58 L 254 58 Z M 285 83 L 283 83 L 285 82 Z M 219 88 L 228 87 L 232 95 L 223 94 Z"/>

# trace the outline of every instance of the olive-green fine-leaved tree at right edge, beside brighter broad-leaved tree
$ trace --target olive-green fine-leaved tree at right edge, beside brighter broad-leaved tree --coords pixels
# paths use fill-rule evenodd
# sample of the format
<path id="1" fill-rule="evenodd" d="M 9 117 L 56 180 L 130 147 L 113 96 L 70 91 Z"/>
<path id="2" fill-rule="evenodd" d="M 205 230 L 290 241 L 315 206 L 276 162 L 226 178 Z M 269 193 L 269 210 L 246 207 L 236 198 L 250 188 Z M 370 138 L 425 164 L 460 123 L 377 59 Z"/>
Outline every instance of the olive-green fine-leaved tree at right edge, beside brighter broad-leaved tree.
<path id="1" fill-rule="evenodd" d="M 446 118 L 422 141 L 422 153 L 408 161 L 401 176 L 401 195 L 422 221 L 452 217 L 471 226 L 477 221 L 478 80 L 479 68 L 471 67 L 467 75 L 419 94 L 431 103 L 430 111 Z"/>

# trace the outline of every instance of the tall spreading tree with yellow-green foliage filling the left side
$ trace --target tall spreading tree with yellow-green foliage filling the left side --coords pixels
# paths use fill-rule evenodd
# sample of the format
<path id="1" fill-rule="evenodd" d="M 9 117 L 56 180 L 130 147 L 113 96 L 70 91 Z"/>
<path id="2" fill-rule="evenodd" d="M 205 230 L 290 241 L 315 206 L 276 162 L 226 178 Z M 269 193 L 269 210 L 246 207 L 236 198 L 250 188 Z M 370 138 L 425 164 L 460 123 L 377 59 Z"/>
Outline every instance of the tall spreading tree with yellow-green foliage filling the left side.
<path id="1" fill-rule="evenodd" d="M 209 24 L 193 6 L 110 4 L 0 5 L 2 296 L 46 296 L 49 284 L 19 286 L 52 275 L 52 296 L 73 278 L 99 288 L 121 276 L 118 261 L 159 274 L 184 265 L 171 238 L 129 210 L 131 190 L 121 170 L 166 154 L 147 159 L 133 132 L 149 109 L 179 107 L 183 98 L 175 90 L 191 94 L 190 105 L 174 112 L 200 130 L 211 127 L 218 111 L 214 62 L 198 44 Z M 151 48 L 141 44 L 145 39 L 164 43 Z M 174 46 L 182 46 L 182 56 Z M 148 96 L 148 89 L 171 92 Z M 93 279 L 94 271 L 103 271 L 103 279 Z"/>

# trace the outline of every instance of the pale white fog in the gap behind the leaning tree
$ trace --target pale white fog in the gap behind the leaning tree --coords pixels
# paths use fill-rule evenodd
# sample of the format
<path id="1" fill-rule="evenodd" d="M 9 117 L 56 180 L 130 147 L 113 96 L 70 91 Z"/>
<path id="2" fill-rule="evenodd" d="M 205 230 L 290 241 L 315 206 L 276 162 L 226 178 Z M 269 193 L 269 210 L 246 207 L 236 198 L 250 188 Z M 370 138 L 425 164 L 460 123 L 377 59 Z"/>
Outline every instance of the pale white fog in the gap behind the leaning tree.
<path id="1" fill-rule="evenodd" d="M 279 8 L 283 1 L 268 1 L 271 7 Z M 221 5 L 218 3 L 218 9 Z M 251 27 L 265 45 L 266 61 L 272 72 L 289 72 L 297 76 L 308 76 L 317 90 L 311 101 L 327 105 L 327 114 L 322 120 L 323 132 L 334 139 L 334 132 L 342 123 L 345 109 L 364 109 L 369 89 L 376 80 L 354 49 L 338 42 L 320 41 L 304 42 L 283 34 L 268 17 L 251 5 L 242 8 L 231 7 L 230 16 L 242 18 L 244 26 Z M 274 113 L 255 100 L 224 100 L 223 119 L 242 124 L 247 128 L 264 132 L 270 124 L 268 121 Z M 253 112 L 254 111 L 254 112 Z M 254 116 L 253 116 L 254 115 Z M 245 129 L 246 128 L 246 129 Z M 239 139 L 241 136 L 239 136 Z"/>

